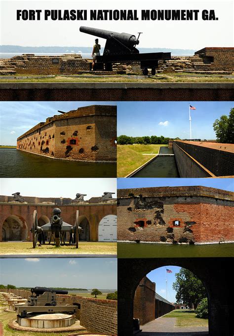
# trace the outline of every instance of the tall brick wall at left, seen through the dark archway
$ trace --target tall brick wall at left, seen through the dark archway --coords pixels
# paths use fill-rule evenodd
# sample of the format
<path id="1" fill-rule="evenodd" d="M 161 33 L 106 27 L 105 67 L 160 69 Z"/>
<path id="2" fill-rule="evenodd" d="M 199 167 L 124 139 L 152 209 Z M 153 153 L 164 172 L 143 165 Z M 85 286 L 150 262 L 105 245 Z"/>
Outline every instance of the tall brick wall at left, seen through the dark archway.
<path id="1" fill-rule="evenodd" d="M 134 296 L 134 318 L 144 325 L 155 320 L 155 283 L 144 277 L 138 285 Z"/>

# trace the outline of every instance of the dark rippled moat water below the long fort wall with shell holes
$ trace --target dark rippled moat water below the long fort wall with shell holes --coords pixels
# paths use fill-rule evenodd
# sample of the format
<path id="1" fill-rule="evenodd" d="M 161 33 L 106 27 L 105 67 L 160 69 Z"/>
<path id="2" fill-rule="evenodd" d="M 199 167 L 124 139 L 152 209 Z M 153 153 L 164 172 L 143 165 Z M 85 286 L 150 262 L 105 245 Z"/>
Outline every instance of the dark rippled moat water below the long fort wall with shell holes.
<path id="1" fill-rule="evenodd" d="M 116 163 L 55 160 L 0 148 L 0 177 L 116 177 Z"/>

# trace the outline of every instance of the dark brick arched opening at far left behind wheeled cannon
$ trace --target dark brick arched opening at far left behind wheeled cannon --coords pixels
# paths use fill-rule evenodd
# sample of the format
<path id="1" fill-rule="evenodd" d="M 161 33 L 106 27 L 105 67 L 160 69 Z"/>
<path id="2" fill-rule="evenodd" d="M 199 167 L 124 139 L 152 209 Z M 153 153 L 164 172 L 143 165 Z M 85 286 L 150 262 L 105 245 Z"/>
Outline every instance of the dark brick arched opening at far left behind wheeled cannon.
<path id="1" fill-rule="evenodd" d="M 28 227 L 23 217 L 8 216 L 2 225 L 2 241 L 27 240 Z"/>

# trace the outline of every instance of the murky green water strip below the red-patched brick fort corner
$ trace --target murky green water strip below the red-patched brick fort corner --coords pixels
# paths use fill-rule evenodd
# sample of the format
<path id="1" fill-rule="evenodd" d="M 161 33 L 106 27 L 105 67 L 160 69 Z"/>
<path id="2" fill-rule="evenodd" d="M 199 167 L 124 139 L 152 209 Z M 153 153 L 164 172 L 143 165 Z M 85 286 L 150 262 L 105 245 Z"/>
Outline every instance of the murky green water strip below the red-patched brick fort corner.
<path id="1" fill-rule="evenodd" d="M 118 242 L 117 253 L 118 258 L 234 257 L 234 243 L 174 245 Z"/>

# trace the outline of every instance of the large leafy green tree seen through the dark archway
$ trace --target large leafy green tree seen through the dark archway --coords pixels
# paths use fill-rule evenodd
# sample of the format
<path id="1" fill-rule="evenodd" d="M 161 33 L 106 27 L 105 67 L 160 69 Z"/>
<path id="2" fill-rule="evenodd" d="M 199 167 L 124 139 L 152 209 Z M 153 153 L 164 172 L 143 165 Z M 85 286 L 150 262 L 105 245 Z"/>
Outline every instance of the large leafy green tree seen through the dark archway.
<path id="1" fill-rule="evenodd" d="M 187 304 L 196 309 L 197 305 L 206 297 L 206 290 L 202 282 L 189 270 L 181 268 L 175 274 L 176 282 L 172 287 L 176 291 L 176 302 Z"/>

